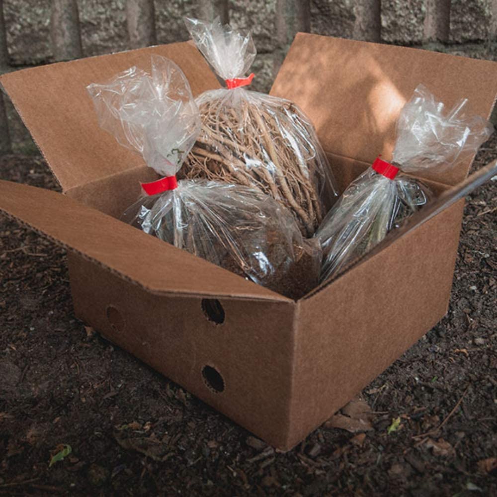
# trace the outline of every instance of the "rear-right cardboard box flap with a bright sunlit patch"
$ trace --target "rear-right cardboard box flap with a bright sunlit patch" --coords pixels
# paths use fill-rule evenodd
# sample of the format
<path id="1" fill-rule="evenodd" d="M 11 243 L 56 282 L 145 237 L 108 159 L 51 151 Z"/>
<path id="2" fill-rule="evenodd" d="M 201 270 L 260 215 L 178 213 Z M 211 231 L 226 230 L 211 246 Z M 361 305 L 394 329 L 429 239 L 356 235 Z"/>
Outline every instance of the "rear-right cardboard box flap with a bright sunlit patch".
<path id="1" fill-rule="evenodd" d="M 488 119 L 497 63 L 299 33 L 271 94 L 304 110 L 327 152 L 371 163 L 378 154 L 390 158 L 397 117 L 419 83 L 449 107 L 468 98 L 468 113 Z M 425 177 L 453 185 L 469 166 L 466 161 Z"/>

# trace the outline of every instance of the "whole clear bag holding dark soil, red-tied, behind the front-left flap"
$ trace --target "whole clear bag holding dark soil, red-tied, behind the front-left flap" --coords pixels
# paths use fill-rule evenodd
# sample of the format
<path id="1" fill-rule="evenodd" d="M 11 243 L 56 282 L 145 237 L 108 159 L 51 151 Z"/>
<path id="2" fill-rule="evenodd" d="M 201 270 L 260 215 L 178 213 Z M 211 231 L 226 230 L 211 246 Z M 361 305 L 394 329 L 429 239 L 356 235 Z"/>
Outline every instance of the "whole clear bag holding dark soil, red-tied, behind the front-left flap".
<path id="1" fill-rule="evenodd" d="M 181 70 L 161 56 L 152 73 L 131 68 L 111 82 L 90 84 L 99 123 L 122 145 L 140 152 L 166 181 L 122 219 L 146 233 L 298 298 L 318 282 L 321 248 L 304 240 L 289 210 L 259 189 L 208 180 L 181 180 L 200 117 Z M 145 186 L 154 191 L 159 180 Z"/>

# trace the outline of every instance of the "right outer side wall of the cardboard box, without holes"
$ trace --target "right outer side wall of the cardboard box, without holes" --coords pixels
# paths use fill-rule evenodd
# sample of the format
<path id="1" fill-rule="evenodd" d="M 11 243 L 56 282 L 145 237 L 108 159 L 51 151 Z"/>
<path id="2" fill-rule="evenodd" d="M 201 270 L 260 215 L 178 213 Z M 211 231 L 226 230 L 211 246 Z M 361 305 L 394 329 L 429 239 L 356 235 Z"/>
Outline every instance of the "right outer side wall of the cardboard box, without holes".
<path id="1" fill-rule="evenodd" d="M 432 237 L 433 226 L 440 225 L 436 217 L 430 219 L 431 225 L 426 224 L 420 230 L 411 231 L 409 239 L 405 237 L 399 240 L 403 249 L 399 250 L 391 245 L 387 248 L 389 253 L 385 250 L 376 253 L 369 260 L 373 271 L 371 264 L 357 265 L 355 270 L 347 271 L 334 281 L 334 285 L 328 286 L 325 295 L 320 292 L 316 296 L 317 300 L 298 303 L 302 331 L 307 332 L 309 337 L 304 333 L 300 336 L 300 350 L 294 357 L 297 370 L 292 397 L 293 410 L 290 414 L 294 430 L 289 447 L 326 421 L 445 315 L 459 243 L 459 233 L 454 231 L 462 219 L 463 207 L 464 201 L 459 199 L 450 209 L 439 213 L 443 218 L 443 227 L 440 238 L 433 239 L 431 243 L 430 249 L 435 250 L 435 256 L 429 261 L 423 259 L 423 246 L 414 241 L 419 236 L 421 240 Z M 438 239 L 449 242 L 447 253 L 436 252 Z M 409 260 L 415 261 L 414 269 L 412 264 L 405 263 L 406 254 L 409 254 Z M 394 273 L 393 286 L 383 286 L 377 283 L 374 275 L 382 271 L 381 281 L 390 279 L 386 264 L 392 260 L 392 256 L 395 267 L 401 270 Z M 433 270 L 433 266 L 438 271 Z M 368 277 L 368 274 L 372 277 Z M 413 274 L 418 275 L 418 280 L 411 283 L 409 275 Z M 419 280 L 419 275 L 424 275 L 426 279 L 423 277 Z M 361 281 L 366 285 L 361 291 L 356 294 L 354 290 L 350 290 L 357 288 Z M 355 284 L 351 286 L 351 282 Z M 399 289 L 398 293 L 395 293 L 395 288 Z M 345 293 L 343 289 L 346 289 Z M 390 293 L 392 290 L 394 293 Z M 396 304 L 389 303 L 382 312 L 380 308 L 384 298 L 389 295 Z M 339 306 L 339 310 L 345 305 L 348 313 L 340 314 L 333 310 L 329 315 L 319 316 L 315 320 L 319 309 L 328 304 L 332 306 L 333 302 Z M 419 309 L 424 312 L 418 312 Z M 336 321 L 331 321 L 332 317 Z M 361 342 L 360 336 L 367 341 Z M 367 346 L 368 343 L 372 345 L 372 350 Z M 372 355 L 368 355 L 368 352 Z M 342 375 L 344 378 L 341 382 L 333 382 L 333 379 Z M 320 393 L 323 399 L 316 400 L 316 406 L 313 406 L 313 399 L 317 399 Z M 302 414 L 303 412 L 306 414 Z"/>

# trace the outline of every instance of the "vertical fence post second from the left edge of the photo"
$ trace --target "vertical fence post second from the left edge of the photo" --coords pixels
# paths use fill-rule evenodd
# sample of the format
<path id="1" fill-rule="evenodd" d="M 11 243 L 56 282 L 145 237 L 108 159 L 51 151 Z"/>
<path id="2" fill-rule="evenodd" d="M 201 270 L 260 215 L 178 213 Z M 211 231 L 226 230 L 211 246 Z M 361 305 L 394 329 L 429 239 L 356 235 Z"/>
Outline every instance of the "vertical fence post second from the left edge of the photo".
<path id="1" fill-rule="evenodd" d="M 56 61 L 78 59 L 83 56 L 76 0 L 52 0 L 50 35 Z"/>

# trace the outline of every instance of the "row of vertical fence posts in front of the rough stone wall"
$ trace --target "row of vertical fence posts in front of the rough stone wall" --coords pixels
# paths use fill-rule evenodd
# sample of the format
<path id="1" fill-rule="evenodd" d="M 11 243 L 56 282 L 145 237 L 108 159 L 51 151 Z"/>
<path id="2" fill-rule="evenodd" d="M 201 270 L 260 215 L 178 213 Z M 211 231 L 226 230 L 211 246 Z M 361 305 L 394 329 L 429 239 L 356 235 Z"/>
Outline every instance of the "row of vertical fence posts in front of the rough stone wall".
<path id="1" fill-rule="evenodd" d="M 196 3 L 199 18 L 210 19 L 220 15 L 223 22 L 229 22 L 229 0 L 197 0 Z M 450 3 L 450 0 L 425 0 L 423 31 L 427 39 L 448 39 Z M 381 40 L 381 0 L 356 0 L 354 16 L 353 38 Z M 131 48 L 157 43 L 154 0 L 126 0 L 126 19 Z M 276 0 L 276 64 L 278 59 L 279 62 L 283 60 L 295 33 L 310 30 L 311 0 Z M 77 0 L 52 0 L 50 35 L 55 61 L 83 57 Z M 3 0 L 0 0 L 0 72 L 9 70 L 11 68 L 3 18 Z M 0 154 L 10 151 L 8 121 L 3 95 L 0 94 Z"/>

